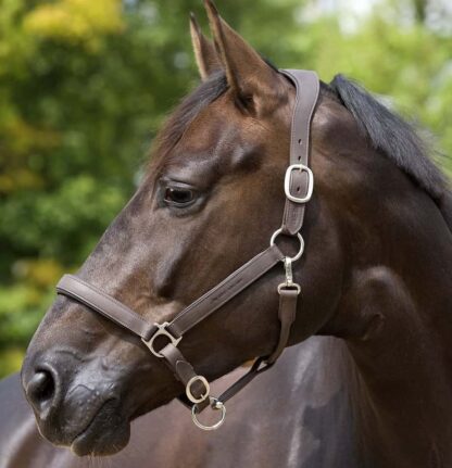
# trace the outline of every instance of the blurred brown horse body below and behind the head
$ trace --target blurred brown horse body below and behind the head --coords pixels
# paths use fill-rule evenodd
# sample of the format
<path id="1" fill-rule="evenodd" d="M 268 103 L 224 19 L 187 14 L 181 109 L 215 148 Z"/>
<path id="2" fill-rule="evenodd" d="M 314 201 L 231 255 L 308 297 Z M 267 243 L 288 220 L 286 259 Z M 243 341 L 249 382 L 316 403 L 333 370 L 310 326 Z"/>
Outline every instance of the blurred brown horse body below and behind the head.
<path id="1" fill-rule="evenodd" d="M 350 364 L 340 340 L 310 338 L 237 395 L 221 431 L 196 430 L 173 401 L 133 421 L 130 443 L 108 459 L 80 458 L 43 440 L 16 374 L 0 383 L 0 468 L 359 468 L 346 377 Z M 230 384 L 242 371 L 215 387 Z"/>

